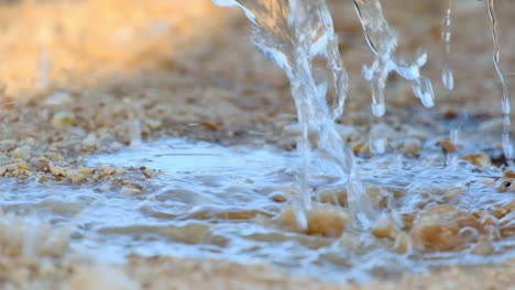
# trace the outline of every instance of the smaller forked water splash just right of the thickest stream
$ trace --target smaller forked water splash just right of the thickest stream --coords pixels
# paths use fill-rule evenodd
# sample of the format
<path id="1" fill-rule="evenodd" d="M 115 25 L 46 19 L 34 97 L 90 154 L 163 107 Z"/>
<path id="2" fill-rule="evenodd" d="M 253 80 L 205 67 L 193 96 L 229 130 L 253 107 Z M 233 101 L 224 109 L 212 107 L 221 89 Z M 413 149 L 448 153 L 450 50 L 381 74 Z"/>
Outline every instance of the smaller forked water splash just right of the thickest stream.
<path id="1" fill-rule="evenodd" d="M 419 53 L 415 59 L 395 57 L 397 34 L 386 22 L 379 0 L 353 0 L 370 48 L 375 55 L 372 65 L 363 66 L 363 78 L 372 86 L 372 112 L 384 115 L 384 88 L 391 71 L 396 71 L 412 82 L 413 91 L 421 103 L 431 108 L 435 93 L 429 78 L 420 75 L 420 68 L 427 62 L 427 54 Z"/>

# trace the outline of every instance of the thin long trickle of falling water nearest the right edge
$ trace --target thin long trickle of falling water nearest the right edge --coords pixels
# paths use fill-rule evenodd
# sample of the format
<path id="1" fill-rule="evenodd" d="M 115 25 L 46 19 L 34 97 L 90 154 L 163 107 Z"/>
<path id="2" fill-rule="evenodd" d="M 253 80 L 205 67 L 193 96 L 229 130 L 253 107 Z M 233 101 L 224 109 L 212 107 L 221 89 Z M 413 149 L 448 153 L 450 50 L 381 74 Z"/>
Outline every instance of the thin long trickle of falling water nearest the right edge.
<path id="1" fill-rule="evenodd" d="M 508 88 L 506 80 L 504 79 L 504 74 L 500 65 L 500 58 L 501 58 L 501 52 L 498 48 L 498 41 L 497 41 L 497 19 L 495 15 L 495 1 L 494 0 L 487 0 L 487 7 L 489 7 L 489 15 L 490 20 L 492 21 L 492 37 L 493 37 L 493 43 L 494 43 L 494 54 L 493 54 L 493 64 L 495 67 L 495 72 L 497 74 L 498 80 L 501 81 L 501 85 L 503 87 L 503 100 L 502 100 L 502 109 L 503 109 L 503 148 L 504 148 L 504 156 L 506 157 L 506 160 L 511 167 L 514 166 L 513 164 L 513 158 L 514 158 L 514 152 L 513 152 L 513 143 L 509 137 L 509 126 L 511 126 L 511 116 L 509 116 L 509 94 L 508 94 Z"/>

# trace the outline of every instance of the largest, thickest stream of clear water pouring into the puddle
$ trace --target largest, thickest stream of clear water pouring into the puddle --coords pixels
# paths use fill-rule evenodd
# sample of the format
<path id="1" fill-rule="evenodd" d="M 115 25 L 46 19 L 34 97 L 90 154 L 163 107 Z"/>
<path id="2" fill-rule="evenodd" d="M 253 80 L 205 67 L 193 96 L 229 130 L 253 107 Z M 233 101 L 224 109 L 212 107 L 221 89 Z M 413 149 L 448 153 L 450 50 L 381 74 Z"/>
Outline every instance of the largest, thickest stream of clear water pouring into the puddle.
<path id="1" fill-rule="evenodd" d="M 298 225 L 307 227 L 305 211 L 310 207 L 310 136 L 317 138 L 316 148 L 335 165 L 333 169 L 348 178 L 349 202 L 353 211 L 368 207 L 368 202 L 363 201 L 364 193 L 353 154 L 344 147 L 335 125 L 335 120 L 343 112 L 349 77 L 340 58 L 338 38 L 326 1 L 213 0 L 213 3 L 239 7 L 244 11 L 254 24 L 254 44 L 286 72 L 291 81 L 302 127 L 297 149 L 304 158 L 297 201 Z M 325 60 L 325 66 L 314 62 L 320 58 Z M 325 71 L 329 71 L 330 77 Z M 335 96 L 332 105 L 326 100 L 330 88 Z M 366 209 L 359 211 L 360 214 L 373 212 Z M 360 220 L 366 221 L 369 217 Z"/>

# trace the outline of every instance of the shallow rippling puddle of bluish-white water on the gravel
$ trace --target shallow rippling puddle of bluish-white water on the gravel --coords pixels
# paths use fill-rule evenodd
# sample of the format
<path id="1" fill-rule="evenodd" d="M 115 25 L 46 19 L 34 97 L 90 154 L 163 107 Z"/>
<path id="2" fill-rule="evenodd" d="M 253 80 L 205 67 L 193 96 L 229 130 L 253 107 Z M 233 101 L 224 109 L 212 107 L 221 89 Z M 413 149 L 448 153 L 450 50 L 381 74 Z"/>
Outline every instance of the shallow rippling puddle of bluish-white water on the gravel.
<path id="1" fill-rule="evenodd" d="M 139 193 L 107 181 L 4 179 L 0 207 L 72 224 L 75 250 L 114 263 L 128 254 L 222 258 L 335 281 L 515 257 L 511 179 L 460 159 L 445 166 L 441 152 L 424 152 L 358 160 L 377 220 L 365 230 L 349 221 L 346 180 L 317 171 L 317 161 L 309 228 L 298 231 L 288 202 L 296 154 L 183 138 L 89 157 L 90 166 L 156 170 Z"/>

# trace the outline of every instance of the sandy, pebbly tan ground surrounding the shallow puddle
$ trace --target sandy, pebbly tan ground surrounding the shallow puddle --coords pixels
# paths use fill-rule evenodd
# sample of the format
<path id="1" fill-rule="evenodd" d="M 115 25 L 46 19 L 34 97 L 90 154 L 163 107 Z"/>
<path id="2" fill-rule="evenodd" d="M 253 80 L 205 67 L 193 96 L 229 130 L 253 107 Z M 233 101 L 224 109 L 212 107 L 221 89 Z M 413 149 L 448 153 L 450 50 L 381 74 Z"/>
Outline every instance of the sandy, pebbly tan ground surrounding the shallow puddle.
<path id="1" fill-rule="evenodd" d="M 403 51 L 420 46 L 435 55 L 426 71 L 438 80 L 443 8 L 427 2 L 391 1 L 385 8 L 404 35 Z M 436 81 L 434 112 L 445 119 L 467 109 L 490 120 L 500 115 L 501 104 L 487 14 L 464 0 L 458 4 L 452 46 L 458 89 L 445 92 Z M 498 1 L 498 7 L 502 47 L 513 47 L 515 31 L 503 27 L 515 24 L 515 18 L 509 18 L 515 9 L 507 0 Z M 350 1 L 333 3 L 332 11 L 340 49 L 352 74 L 351 97 L 340 122 L 355 126 L 348 142 L 361 148 L 366 142 L 363 132 L 373 119 L 369 88 L 357 71 L 370 63 L 371 54 Z M 296 135 L 285 130 L 295 122 L 288 82 L 249 44 L 249 30 L 239 11 L 216 8 L 208 0 L 3 3 L 0 176 L 72 183 L 109 179 L 136 193 L 152 171 L 87 168 L 80 156 L 120 149 L 134 136 L 293 148 Z M 515 53 L 504 49 L 502 56 L 506 70 L 513 68 Z M 405 122 L 410 116 L 405 108 L 418 107 L 410 88 L 396 77 L 387 99 L 391 123 Z M 23 253 L 23 234 L 12 223 L 0 224 L 2 289 L 509 289 L 515 277 L 514 260 L 362 286 L 326 285 L 287 277 L 263 265 L 228 261 L 131 257 L 125 265 L 97 265 L 67 253 L 66 233 L 50 228 L 42 231 L 42 237 L 57 237 L 55 243 Z"/>

